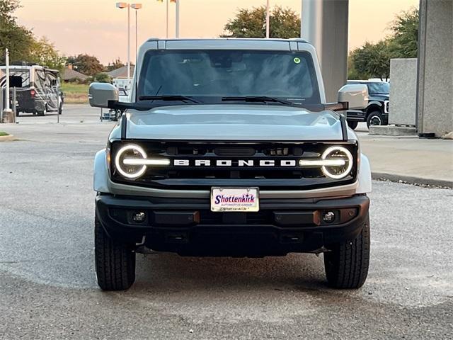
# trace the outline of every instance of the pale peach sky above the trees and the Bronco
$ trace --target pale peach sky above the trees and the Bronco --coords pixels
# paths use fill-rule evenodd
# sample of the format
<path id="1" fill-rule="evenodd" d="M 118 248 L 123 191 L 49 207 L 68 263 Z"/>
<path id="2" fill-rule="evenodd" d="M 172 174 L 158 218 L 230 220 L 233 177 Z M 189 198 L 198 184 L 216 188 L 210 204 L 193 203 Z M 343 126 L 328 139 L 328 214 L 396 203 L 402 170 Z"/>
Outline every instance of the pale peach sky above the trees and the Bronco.
<path id="1" fill-rule="evenodd" d="M 45 35 L 64 55 L 88 53 L 107 64 L 127 55 L 127 10 L 115 8 L 115 0 L 21 0 L 16 12 L 18 21 Z M 164 38 L 166 6 L 157 0 L 137 0 L 139 43 L 150 37 Z M 301 11 L 301 0 L 270 0 L 270 4 Z M 223 33 L 237 8 L 265 4 L 265 0 L 180 0 L 180 36 L 211 38 Z M 377 41 L 389 34 L 386 30 L 396 13 L 418 7 L 418 0 L 350 0 L 349 47 L 365 41 Z M 175 5 L 170 4 L 170 37 L 175 33 Z M 134 13 L 131 13 L 134 59 Z"/>

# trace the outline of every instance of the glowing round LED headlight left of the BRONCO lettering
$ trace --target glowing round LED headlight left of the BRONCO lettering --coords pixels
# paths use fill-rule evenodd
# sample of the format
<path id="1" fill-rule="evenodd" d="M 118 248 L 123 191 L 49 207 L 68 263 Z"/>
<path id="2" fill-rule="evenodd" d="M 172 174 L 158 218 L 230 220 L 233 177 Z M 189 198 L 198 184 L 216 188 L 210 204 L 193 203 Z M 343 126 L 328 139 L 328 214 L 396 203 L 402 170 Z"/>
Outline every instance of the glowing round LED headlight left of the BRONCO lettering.
<path id="1" fill-rule="evenodd" d="M 127 161 L 125 162 L 125 159 Z M 127 179 L 138 179 L 147 171 L 144 164 L 134 164 L 130 160 L 147 159 L 147 153 L 138 145 L 126 145 L 118 150 L 115 156 L 115 166 L 117 171 Z"/>

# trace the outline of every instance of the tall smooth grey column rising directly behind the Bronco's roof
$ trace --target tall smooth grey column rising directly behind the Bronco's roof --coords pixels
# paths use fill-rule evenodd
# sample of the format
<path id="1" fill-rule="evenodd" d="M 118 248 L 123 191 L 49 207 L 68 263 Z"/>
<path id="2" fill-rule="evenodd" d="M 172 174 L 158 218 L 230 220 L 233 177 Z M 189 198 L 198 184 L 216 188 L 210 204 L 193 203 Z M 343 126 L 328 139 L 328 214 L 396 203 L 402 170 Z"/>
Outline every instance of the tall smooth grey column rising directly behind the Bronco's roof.
<path id="1" fill-rule="evenodd" d="M 348 79 L 348 14 L 349 0 L 302 0 L 301 37 L 318 52 L 328 102 Z"/>

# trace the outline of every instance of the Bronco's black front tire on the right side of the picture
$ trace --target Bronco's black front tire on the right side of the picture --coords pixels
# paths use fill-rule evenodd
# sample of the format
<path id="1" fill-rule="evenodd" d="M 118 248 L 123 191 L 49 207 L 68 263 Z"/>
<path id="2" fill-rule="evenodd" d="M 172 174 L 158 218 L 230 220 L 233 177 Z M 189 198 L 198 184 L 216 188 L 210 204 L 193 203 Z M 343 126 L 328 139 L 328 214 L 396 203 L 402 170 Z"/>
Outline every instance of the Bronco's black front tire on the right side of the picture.
<path id="1" fill-rule="evenodd" d="M 369 266 L 369 218 L 352 241 L 336 244 L 324 253 L 328 285 L 357 289 L 367 279 Z"/>

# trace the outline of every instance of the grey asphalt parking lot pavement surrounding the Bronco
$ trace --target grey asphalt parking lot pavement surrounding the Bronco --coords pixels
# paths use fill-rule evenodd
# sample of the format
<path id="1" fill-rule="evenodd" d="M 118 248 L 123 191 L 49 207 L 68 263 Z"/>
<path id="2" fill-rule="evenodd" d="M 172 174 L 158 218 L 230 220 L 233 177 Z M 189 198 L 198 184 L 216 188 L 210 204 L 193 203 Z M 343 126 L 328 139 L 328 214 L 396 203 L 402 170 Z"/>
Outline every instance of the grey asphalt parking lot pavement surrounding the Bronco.
<path id="1" fill-rule="evenodd" d="M 360 290 L 326 287 L 322 256 L 138 256 L 127 292 L 93 270 L 99 110 L 0 126 L 0 339 L 453 339 L 453 191 L 374 181 Z M 81 123 L 82 122 L 82 123 Z M 42 123 L 42 124 L 35 124 Z"/>

